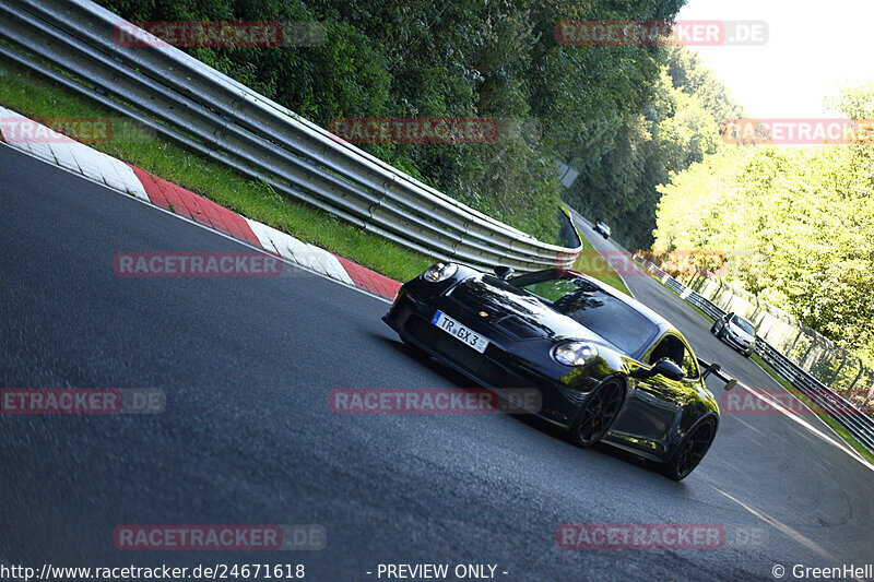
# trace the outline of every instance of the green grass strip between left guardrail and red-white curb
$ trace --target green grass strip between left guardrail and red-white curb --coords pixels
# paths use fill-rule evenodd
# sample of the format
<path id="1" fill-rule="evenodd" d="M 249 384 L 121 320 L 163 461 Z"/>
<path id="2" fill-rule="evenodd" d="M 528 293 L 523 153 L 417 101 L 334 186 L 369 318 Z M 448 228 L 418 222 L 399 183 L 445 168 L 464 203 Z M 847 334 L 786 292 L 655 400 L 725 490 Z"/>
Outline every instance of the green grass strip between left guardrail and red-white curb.
<path id="1" fill-rule="evenodd" d="M 268 224 L 398 281 L 424 271 L 433 259 L 353 226 L 328 212 L 276 193 L 221 164 L 169 143 L 135 121 L 0 57 L 0 105 L 38 119 L 104 118 L 111 136 L 88 143 L 246 217 Z M 74 138 L 74 136 L 73 136 Z"/>

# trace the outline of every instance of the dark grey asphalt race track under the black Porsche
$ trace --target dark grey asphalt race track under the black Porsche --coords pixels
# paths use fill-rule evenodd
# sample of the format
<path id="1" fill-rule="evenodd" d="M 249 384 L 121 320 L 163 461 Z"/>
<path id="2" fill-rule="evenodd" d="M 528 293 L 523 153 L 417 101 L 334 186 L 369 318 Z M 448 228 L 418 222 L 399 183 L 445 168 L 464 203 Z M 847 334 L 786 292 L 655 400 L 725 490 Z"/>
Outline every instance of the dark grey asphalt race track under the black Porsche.
<path id="1" fill-rule="evenodd" d="M 498 580 L 566 581 L 874 562 L 874 474 L 811 417 L 723 415 L 702 464 L 673 483 L 536 420 L 333 414 L 338 388 L 468 384 L 411 357 L 385 301 L 303 271 L 116 276 L 120 251 L 246 248 L 7 146 L 0 245 L 0 387 L 167 394 L 158 415 L 0 416 L 0 565 L 304 563 L 307 580 L 341 581 L 377 580 L 379 563 L 489 563 Z M 657 282 L 626 280 L 699 356 L 776 388 Z M 327 548 L 113 544 L 120 524 L 259 523 L 322 524 Z M 719 524 L 725 543 L 562 549 L 563 523 Z"/>

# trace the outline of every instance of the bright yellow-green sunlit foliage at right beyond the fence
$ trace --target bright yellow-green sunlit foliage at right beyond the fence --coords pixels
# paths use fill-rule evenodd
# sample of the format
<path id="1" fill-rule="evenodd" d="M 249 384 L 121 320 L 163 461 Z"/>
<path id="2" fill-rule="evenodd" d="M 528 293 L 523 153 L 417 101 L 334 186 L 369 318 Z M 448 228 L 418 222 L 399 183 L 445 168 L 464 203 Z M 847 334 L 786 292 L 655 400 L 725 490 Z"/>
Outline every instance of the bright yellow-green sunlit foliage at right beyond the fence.
<path id="1" fill-rule="evenodd" d="M 874 84 L 831 103 L 874 119 Z M 874 363 L 874 141 L 858 139 L 693 165 L 660 189 L 656 248 L 720 250 L 729 278 Z"/>

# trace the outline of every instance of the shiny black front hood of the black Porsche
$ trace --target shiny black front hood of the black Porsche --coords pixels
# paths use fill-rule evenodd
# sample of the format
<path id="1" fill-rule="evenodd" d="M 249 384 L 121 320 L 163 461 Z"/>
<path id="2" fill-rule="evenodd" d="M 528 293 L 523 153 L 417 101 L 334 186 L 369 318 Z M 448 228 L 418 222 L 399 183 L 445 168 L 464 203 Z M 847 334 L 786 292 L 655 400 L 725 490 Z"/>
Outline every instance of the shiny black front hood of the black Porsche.
<path id="1" fill-rule="evenodd" d="M 459 283 L 449 293 L 449 297 L 471 312 L 486 313 L 485 317 L 493 325 L 522 340 L 575 337 L 614 347 L 593 331 L 547 307 L 536 297 L 491 275 L 471 277 Z"/>

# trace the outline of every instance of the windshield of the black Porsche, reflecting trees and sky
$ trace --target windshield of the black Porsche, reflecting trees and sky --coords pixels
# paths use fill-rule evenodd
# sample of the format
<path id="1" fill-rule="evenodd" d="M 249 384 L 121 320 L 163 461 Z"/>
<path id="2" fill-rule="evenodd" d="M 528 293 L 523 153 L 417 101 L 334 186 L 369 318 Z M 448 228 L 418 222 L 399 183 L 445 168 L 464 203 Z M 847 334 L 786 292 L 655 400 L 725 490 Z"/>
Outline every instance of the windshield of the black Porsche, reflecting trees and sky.
<path id="1" fill-rule="evenodd" d="M 512 284 L 546 300 L 553 309 L 586 325 L 626 354 L 641 352 L 659 332 L 656 324 L 634 307 L 583 278 L 552 276 L 544 280 L 532 275 L 518 277 Z"/>

